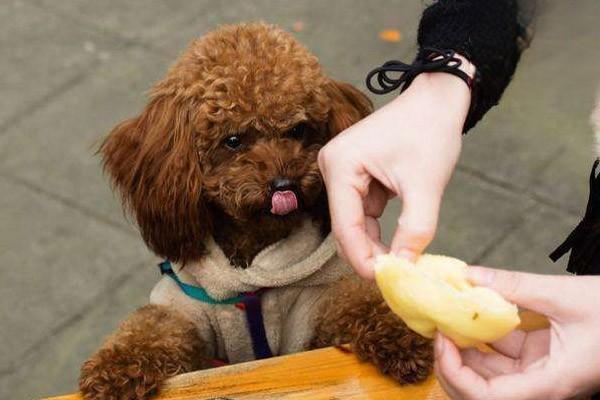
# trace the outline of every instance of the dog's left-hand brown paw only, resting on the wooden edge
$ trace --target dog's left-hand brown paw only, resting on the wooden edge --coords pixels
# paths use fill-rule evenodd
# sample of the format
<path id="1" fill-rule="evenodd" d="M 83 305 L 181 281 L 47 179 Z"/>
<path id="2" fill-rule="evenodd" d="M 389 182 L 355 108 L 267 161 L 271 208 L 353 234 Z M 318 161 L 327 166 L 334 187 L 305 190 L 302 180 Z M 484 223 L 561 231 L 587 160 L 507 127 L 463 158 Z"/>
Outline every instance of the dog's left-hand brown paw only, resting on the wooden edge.
<path id="1" fill-rule="evenodd" d="M 115 346 L 101 349 L 85 362 L 79 390 L 85 400 L 145 400 L 179 371 L 180 366 L 160 353 Z"/>

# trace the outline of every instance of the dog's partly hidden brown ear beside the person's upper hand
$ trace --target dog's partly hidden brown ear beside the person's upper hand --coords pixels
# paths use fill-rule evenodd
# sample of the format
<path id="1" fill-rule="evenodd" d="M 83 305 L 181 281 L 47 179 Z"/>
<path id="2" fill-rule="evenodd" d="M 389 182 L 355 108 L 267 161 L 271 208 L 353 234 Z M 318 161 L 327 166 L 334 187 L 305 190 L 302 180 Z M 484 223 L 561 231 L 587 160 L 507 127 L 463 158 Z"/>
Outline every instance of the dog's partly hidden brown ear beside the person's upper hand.
<path id="1" fill-rule="evenodd" d="M 373 103 L 349 83 L 330 80 L 325 87 L 331 101 L 328 128 L 331 137 L 373 112 Z"/>

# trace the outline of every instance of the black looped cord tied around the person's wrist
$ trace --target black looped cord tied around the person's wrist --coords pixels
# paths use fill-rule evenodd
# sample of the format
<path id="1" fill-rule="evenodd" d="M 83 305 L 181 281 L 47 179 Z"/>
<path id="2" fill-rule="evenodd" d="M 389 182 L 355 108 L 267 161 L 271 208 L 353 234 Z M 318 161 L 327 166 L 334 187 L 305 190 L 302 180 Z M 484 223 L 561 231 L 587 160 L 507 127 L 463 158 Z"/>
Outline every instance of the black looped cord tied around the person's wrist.
<path id="1" fill-rule="evenodd" d="M 404 92 L 417 77 L 423 72 L 447 72 L 462 79 L 469 89 L 473 87 L 473 78 L 460 70 L 462 60 L 455 57 L 454 50 L 440 50 L 433 47 L 424 47 L 419 50 L 415 61 L 412 64 L 405 64 L 402 61 L 392 60 L 375 68 L 367 75 L 367 87 L 375 94 L 387 94 L 400 88 Z M 401 72 L 397 78 L 392 78 L 390 72 Z M 373 78 L 377 77 L 379 87 L 372 84 Z"/>

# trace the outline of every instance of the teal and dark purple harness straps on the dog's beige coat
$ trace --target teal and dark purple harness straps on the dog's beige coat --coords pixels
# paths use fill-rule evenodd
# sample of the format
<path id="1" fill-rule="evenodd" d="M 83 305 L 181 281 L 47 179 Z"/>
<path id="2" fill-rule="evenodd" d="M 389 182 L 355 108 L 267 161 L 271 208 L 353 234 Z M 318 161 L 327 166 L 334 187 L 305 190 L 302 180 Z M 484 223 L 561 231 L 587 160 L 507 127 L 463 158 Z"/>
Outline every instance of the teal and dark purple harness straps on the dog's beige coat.
<path id="1" fill-rule="evenodd" d="M 158 264 L 160 273 L 169 276 L 177 283 L 183 293 L 190 296 L 193 299 L 208 304 L 235 304 L 240 310 L 244 310 L 246 314 L 246 321 L 248 322 L 248 329 L 250 331 L 250 337 L 252 339 L 252 350 L 257 360 L 263 358 L 273 357 L 269 342 L 267 341 L 267 334 L 265 332 L 265 324 L 262 315 L 262 306 L 260 301 L 260 292 L 249 292 L 242 293 L 235 297 L 230 297 L 225 300 L 217 300 L 208 295 L 206 290 L 199 286 L 189 285 L 182 282 L 177 276 L 171 263 L 163 261 Z"/>

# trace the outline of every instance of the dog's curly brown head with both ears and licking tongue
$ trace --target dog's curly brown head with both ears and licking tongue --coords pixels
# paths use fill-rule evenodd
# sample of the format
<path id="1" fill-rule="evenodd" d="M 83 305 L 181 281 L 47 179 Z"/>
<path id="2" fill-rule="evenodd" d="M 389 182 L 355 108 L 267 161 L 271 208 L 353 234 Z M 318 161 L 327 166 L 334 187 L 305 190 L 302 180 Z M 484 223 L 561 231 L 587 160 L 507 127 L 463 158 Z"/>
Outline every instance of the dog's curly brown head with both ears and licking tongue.
<path id="1" fill-rule="evenodd" d="M 286 224 L 315 207 L 319 149 L 371 110 L 290 34 L 226 26 L 190 44 L 101 153 L 149 247 L 185 263 L 202 256 L 215 208 Z"/>

